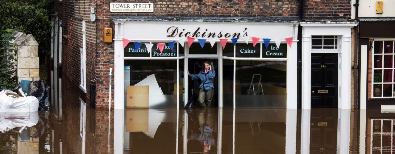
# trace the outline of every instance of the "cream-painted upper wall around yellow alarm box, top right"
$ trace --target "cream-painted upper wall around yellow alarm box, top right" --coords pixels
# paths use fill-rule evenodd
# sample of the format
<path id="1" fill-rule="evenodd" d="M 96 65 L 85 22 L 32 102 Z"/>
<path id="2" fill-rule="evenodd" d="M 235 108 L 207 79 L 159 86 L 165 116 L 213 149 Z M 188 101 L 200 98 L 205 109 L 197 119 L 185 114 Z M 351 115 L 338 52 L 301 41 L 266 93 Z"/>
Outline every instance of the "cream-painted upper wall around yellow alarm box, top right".
<path id="1" fill-rule="evenodd" d="M 358 17 L 395 17 L 395 0 L 380 1 L 383 1 L 383 13 L 376 14 L 376 0 L 359 0 Z"/>

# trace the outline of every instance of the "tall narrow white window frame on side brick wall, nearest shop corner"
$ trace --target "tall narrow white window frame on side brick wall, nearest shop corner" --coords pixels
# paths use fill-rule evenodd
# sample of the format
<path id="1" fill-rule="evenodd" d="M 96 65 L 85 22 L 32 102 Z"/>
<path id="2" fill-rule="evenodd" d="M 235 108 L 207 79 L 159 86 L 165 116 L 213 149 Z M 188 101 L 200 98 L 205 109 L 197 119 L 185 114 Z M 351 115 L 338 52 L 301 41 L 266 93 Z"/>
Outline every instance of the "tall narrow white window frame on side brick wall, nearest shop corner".
<path id="1" fill-rule="evenodd" d="M 79 88 L 84 91 L 84 93 L 87 93 L 87 45 L 86 45 L 86 31 L 85 31 L 85 21 L 82 21 L 82 48 L 80 49 L 81 54 L 81 61 L 80 61 L 80 67 L 81 67 L 81 72 L 80 72 L 80 85 Z"/>

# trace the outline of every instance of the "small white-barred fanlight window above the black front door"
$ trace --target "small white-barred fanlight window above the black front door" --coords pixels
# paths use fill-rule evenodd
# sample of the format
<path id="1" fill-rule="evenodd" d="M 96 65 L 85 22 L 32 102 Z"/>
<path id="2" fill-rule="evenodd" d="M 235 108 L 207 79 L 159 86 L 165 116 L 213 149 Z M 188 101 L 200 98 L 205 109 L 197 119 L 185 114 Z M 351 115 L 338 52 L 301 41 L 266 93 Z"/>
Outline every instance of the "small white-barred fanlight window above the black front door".
<path id="1" fill-rule="evenodd" d="M 311 36 L 312 49 L 337 49 L 337 36 L 313 35 Z"/>

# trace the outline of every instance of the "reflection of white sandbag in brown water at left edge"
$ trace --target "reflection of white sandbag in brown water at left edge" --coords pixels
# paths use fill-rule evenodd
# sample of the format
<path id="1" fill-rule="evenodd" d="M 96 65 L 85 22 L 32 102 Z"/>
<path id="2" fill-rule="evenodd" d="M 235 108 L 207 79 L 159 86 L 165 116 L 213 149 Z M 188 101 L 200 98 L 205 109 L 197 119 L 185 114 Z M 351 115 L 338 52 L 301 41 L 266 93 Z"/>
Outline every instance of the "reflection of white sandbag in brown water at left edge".
<path id="1" fill-rule="evenodd" d="M 23 130 L 24 127 L 32 127 L 36 125 L 37 122 L 38 122 L 38 111 L 0 113 L 1 132 L 7 131 L 15 127 L 22 127 L 21 130 Z"/>

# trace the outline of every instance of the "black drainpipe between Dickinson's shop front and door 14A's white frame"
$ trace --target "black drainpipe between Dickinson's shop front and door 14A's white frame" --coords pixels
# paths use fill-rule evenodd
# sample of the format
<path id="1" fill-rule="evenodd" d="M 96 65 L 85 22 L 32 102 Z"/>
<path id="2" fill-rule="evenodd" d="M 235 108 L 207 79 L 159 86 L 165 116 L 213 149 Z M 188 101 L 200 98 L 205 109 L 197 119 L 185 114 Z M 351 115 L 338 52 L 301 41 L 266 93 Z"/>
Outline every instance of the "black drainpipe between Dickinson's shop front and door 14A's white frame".
<path id="1" fill-rule="evenodd" d="M 299 4 L 299 20 L 302 22 L 303 20 L 303 0 L 300 0 Z M 302 89 L 302 81 L 301 81 L 301 74 L 302 74 L 302 26 L 298 26 L 298 33 L 297 33 L 297 39 L 299 40 L 298 46 L 297 46 L 297 108 L 300 109 L 302 107 L 302 95 L 301 95 L 301 89 Z"/>

